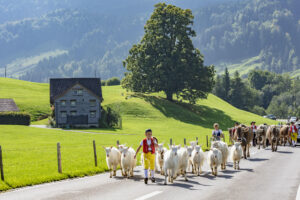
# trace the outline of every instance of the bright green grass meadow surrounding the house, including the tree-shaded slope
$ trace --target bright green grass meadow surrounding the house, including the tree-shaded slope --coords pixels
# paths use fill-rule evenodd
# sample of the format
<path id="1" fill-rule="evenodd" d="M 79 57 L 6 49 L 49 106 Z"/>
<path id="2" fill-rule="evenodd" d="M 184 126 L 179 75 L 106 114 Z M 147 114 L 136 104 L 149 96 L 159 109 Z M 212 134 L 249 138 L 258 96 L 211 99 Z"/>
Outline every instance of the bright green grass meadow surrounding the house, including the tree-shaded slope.
<path id="1" fill-rule="evenodd" d="M 48 112 L 49 85 L 12 79 L 0 79 L 0 82 L 5 84 L 3 86 L 0 83 L 0 98 L 5 91 L 4 96 L 14 98 L 22 110 L 38 113 L 39 108 L 45 107 L 43 112 Z M 40 97 L 41 100 L 28 96 Z M 120 111 L 122 129 L 80 129 L 79 131 L 92 132 L 81 133 L 26 126 L 0 126 L 6 179 L 5 182 L 0 181 L 0 190 L 103 172 L 107 168 L 102 146 L 114 145 L 116 140 L 120 140 L 121 143 L 136 148 L 144 137 L 146 128 L 152 128 L 159 142 L 166 145 L 170 138 L 176 144 L 183 144 L 183 138 L 191 141 L 198 137 L 200 144 L 206 148 L 205 138 L 211 134 L 214 122 L 218 122 L 223 130 L 233 126 L 235 121 L 245 124 L 252 120 L 258 124 L 273 122 L 239 110 L 214 95 L 198 101 L 196 105 L 189 105 L 166 101 L 163 94 L 132 94 L 120 86 L 106 86 L 103 87 L 103 97 L 104 105 L 113 106 Z M 47 120 L 33 122 L 45 123 Z M 98 167 L 94 166 L 93 139 L 97 144 Z M 228 141 L 227 132 L 226 140 Z M 63 174 L 57 172 L 57 142 L 62 146 Z"/>

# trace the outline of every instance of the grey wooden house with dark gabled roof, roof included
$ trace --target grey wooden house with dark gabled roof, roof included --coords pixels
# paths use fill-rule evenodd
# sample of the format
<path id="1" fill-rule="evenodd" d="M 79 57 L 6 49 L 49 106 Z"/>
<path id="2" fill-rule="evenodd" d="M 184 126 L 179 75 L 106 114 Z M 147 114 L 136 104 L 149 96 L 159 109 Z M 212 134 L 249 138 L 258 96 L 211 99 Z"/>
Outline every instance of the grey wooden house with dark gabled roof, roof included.
<path id="1" fill-rule="evenodd" d="M 50 79 L 50 104 L 57 127 L 99 127 L 101 102 L 99 78 Z"/>

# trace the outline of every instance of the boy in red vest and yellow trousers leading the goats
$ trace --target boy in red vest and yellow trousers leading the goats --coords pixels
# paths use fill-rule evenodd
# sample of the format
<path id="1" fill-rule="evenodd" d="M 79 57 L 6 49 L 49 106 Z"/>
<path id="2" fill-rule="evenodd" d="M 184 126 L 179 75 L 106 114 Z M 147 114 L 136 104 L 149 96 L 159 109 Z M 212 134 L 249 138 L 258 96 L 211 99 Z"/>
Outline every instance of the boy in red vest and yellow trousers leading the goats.
<path id="1" fill-rule="evenodd" d="M 140 151 L 141 147 L 143 147 L 143 154 L 144 154 L 144 182 L 148 184 L 148 170 L 150 169 L 151 173 L 151 181 L 152 183 L 155 182 L 154 178 L 154 169 L 155 169 L 155 149 L 158 147 L 157 139 L 152 137 L 152 130 L 147 129 L 145 131 L 146 138 L 143 139 L 140 143 L 140 146 L 137 148 L 134 158 Z"/>

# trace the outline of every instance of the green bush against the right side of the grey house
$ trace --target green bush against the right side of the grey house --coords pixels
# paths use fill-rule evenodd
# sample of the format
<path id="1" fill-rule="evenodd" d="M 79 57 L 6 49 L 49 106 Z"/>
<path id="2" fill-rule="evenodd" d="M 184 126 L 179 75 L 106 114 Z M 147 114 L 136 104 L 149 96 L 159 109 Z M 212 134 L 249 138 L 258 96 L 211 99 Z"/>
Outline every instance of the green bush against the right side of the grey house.
<path id="1" fill-rule="evenodd" d="M 122 128 L 122 118 L 119 112 L 110 107 L 103 107 L 99 121 L 101 128 Z"/>

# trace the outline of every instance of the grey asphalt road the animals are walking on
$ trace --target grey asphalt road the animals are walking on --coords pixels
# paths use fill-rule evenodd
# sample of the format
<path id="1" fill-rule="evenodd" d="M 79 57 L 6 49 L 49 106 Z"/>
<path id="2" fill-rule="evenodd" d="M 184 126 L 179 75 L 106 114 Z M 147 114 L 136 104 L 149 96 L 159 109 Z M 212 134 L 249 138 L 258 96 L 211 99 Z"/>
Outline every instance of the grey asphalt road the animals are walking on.
<path id="1" fill-rule="evenodd" d="M 252 148 L 251 158 L 242 160 L 240 167 L 234 170 L 229 161 L 227 169 L 214 177 L 205 163 L 201 176 L 189 174 L 187 182 L 178 177 L 167 186 L 160 175 L 156 175 L 156 183 L 145 185 L 138 167 L 133 179 L 124 179 L 120 171 L 111 179 L 104 173 L 8 191 L 0 194 L 0 200 L 296 199 L 300 183 L 299 147 L 279 147 L 276 153 Z"/>

